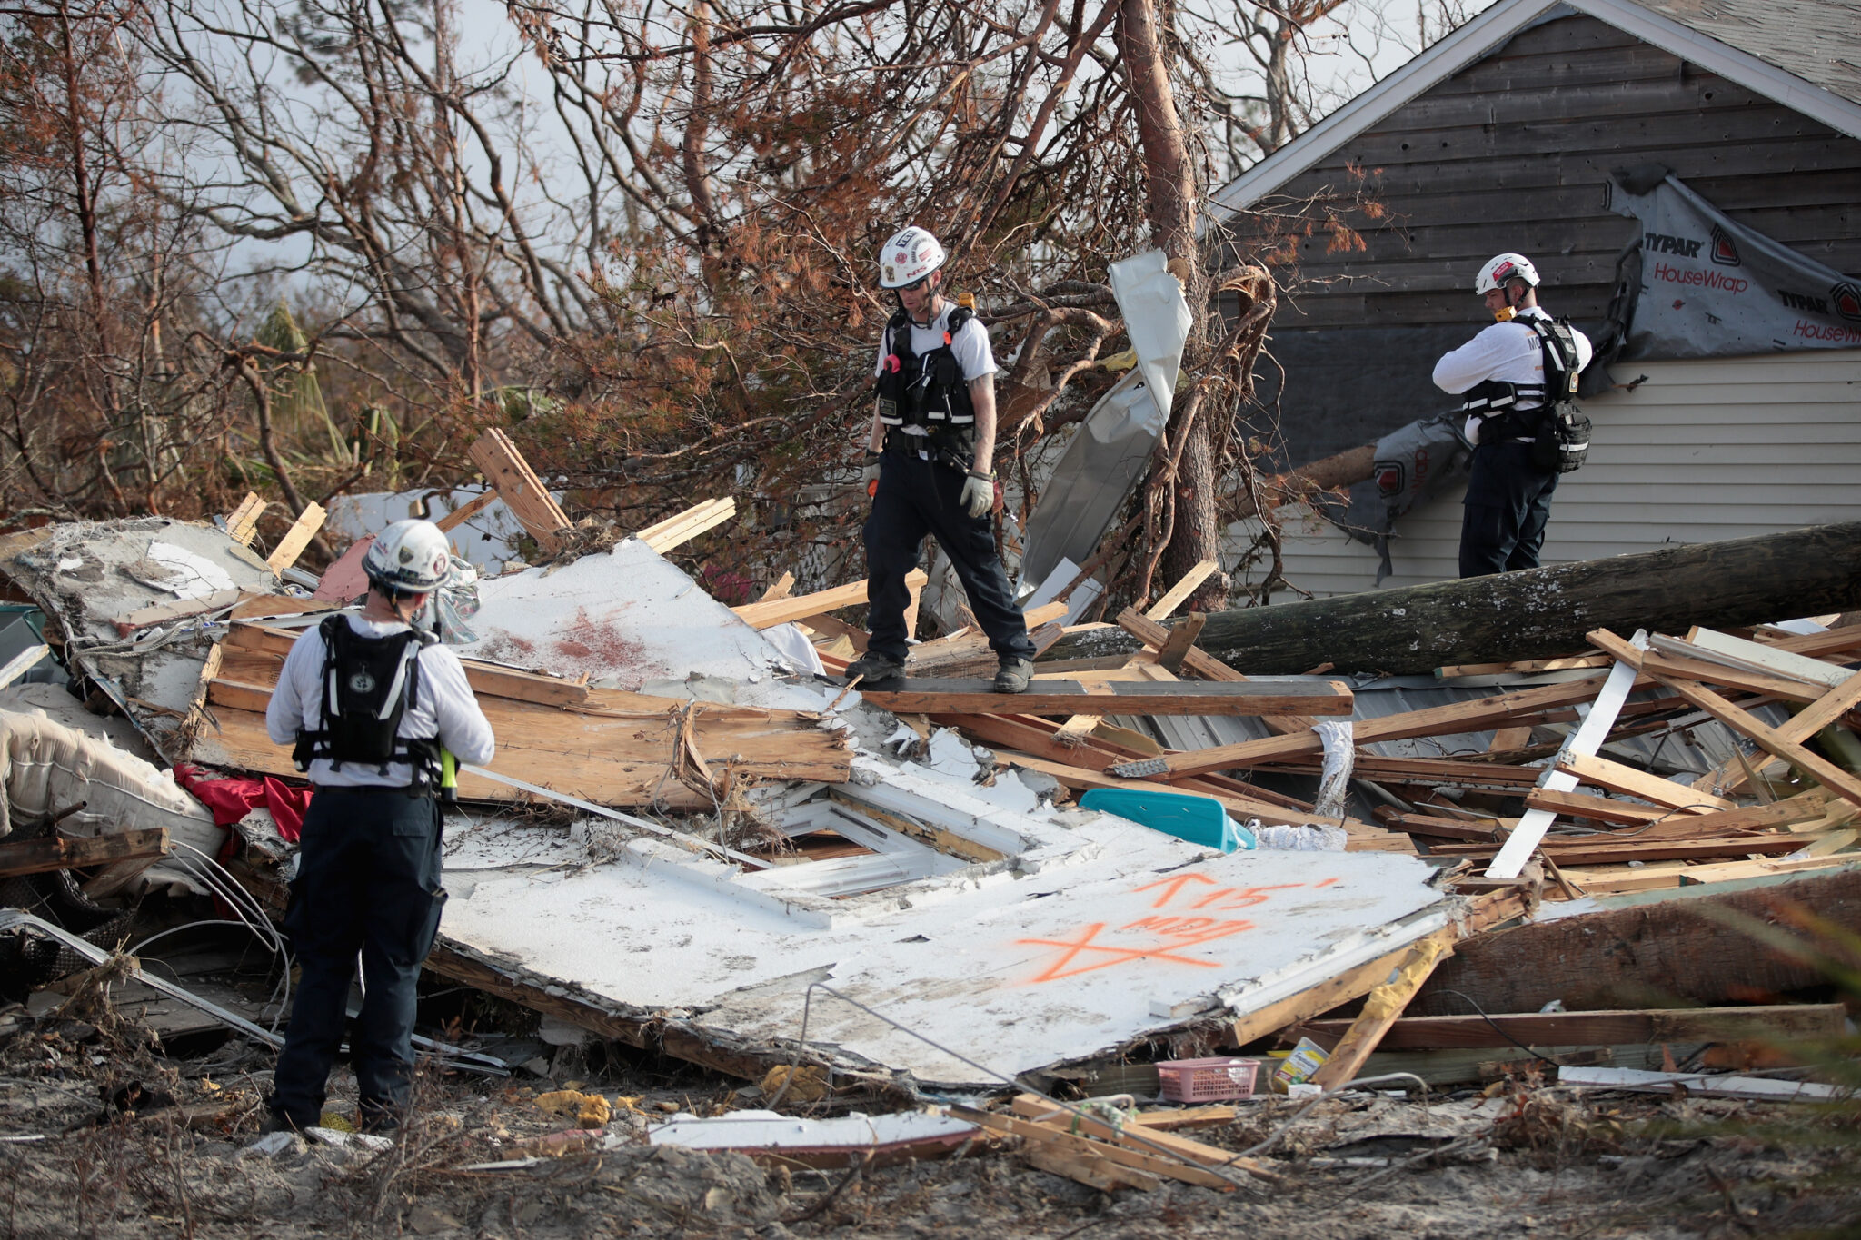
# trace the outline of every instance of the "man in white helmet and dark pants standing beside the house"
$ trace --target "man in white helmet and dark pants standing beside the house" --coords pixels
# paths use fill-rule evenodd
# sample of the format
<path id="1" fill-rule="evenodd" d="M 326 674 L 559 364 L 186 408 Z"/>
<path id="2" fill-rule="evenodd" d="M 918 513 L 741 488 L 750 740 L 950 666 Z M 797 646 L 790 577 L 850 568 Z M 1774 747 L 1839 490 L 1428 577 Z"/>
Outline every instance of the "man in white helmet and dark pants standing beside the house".
<path id="1" fill-rule="evenodd" d="M 1532 415 L 1545 407 L 1545 346 L 1526 323 L 1550 322 L 1537 305 L 1537 268 L 1524 255 L 1491 258 L 1474 292 L 1496 322 L 1435 363 L 1435 385 L 1444 392 L 1506 392 L 1504 405 L 1485 403 L 1485 413 L 1466 418 L 1474 463 L 1461 500 L 1461 576 L 1535 569 L 1545 545 L 1558 474 L 1532 461 Z M 1582 370 L 1589 364 L 1589 336 L 1574 327 L 1571 336 Z"/>

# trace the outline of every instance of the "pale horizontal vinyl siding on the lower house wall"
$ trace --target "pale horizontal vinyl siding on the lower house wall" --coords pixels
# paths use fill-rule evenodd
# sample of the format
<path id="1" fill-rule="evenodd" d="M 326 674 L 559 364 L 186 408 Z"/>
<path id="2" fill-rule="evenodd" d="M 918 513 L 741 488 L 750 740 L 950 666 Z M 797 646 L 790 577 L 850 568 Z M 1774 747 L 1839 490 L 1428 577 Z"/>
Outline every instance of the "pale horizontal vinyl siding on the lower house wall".
<path id="1" fill-rule="evenodd" d="M 1861 521 L 1861 350 L 1623 363 L 1613 374 L 1647 377 L 1584 402 L 1589 463 L 1558 485 L 1545 563 Z M 1463 489 L 1398 521 L 1385 587 L 1457 576 Z M 1372 547 L 1303 506 L 1280 517 L 1284 576 L 1297 589 L 1375 586 Z M 1230 558 L 1254 530 L 1230 530 Z"/>

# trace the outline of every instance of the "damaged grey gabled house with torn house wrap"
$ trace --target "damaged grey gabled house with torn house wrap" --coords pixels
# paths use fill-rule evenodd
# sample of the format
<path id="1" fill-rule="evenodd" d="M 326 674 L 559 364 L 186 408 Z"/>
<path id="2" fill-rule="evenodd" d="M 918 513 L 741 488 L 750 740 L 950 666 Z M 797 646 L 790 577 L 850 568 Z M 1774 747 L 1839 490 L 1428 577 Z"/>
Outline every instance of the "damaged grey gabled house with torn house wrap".
<path id="1" fill-rule="evenodd" d="M 1459 403 L 1431 368 L 1485 322 L 1474 273 L 1504 251 L 1597 342 L 1545 563 L 1861 515 L 1857 41 L 1822 0 L 1500 0 L 1219 190 L 1238 245 L 1297 251 L 1265 394 L 1282 468 L 1364 457 L 1347 511 L 1282 513 L 1286 578 L 1455 576 L 1465 455 L 1366 444 Z M 1418 474 L 1379 578 L 1379 480 Z"/>

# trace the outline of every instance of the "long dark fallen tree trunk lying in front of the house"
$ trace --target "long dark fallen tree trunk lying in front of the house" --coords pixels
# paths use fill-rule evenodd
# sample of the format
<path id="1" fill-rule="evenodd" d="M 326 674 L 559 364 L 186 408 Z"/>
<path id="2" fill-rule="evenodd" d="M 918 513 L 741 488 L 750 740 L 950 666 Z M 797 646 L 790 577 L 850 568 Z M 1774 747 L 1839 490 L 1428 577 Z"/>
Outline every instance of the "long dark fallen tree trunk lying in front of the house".
<path id="1" fill-rule="evenodd" d="M 1215 612 L 1198 645 L 1249 675 L 1329 664 L 1340 673 L 1427 673 L 1448 664 L 1556 658 L 1593 628 L 1686 632 L 1861 604 L 1861 522 L 1667 547 L 1524 573 L 1368 589 Z M 1048 658 L 1135 651 L 1118 628 L 1061 638 Z"/>

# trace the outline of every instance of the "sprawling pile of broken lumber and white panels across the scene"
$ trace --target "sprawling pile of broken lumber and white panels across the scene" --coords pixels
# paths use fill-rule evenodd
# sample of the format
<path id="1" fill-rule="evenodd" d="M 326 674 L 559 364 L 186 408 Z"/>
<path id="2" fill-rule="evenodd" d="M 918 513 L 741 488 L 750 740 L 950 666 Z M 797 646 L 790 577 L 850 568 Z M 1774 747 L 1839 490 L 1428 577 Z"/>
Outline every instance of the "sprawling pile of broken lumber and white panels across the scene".
<path id="1" fill-rule="evenodd" d="M 795 595 L 783 576 L 728 608 L 664 558 L 731 500 L 623 537 L 573 526 L 502 433 L 473 459 L 542 563 L 482 580 L 450 632 L 499 751 L 460 772 L 428 969 L 529 1009 L 543 1045 L 426 1045 L 456 1071 L 553 1073 L 534 1102 L 569 1125 L 486 1166 L 649 1141 L 869 1167 L 1009 1141 L 1104 1192 L 1236 1192 L 1282 1182 L 1290 1145 L 1269 1151 L 1297 1125 L 1238 1149 L 1180 1130 L 1247 1128 L 1275 1089 L 1558 1075 L 1842 1097 L 1790 1049 L 1846 1034 L 1841 1004 L 1801 1002 L 1826 976 L 1747 922 L 1861 922 L 1861 625 L 1597 628 L 1589 651 L 1433 677 L 1254 677 L 1198 647 L 1210 617 L 1172 619 L 1208 563 L 1111 625 L 1031 608 L 1044 653 L 1135 649 L 1042 658 L 1024 695 L 986 692 L 973 628 L 865 692 L 837 675 L 865 643 L 837 615 L 864 582 Z M 294 569 L 320 519 L 268 558 L 244 509 L 0 539 L 76 693 L 0 684 L 7 996 L 54 957 L 106 965 L 138 902 L 188 892 L 285 959 L 301 794 L 262 714 L 296 636 L 361 593 L 354 548 Z M 69 907 L 37 909 L 50 887 Z M 112 983 L 275 1045 L 283 978 L 244 1015 L 141 965 Z M 648 1132 L 556 1069 L 590 1045 L 752 1084 L 722 1119 Z M 1182 1060 L 1247 1063 L 1249 1084 L 1145 1106 Z M 903 1110 L 824 1117 L 878 1102 Z M 1496 1119 L 1427 1153 L 1494 1141 Z"/>

